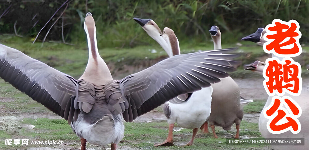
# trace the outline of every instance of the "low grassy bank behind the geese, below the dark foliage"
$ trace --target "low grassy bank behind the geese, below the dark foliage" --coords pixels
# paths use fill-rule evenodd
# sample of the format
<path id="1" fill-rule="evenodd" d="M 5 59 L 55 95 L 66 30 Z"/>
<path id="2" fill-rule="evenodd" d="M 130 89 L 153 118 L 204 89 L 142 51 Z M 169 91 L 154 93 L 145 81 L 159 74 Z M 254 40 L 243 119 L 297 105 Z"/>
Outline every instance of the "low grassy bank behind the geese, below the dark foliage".
<path id="1" fill-rule="evenodd" d="M 44 45 L 40 42 L 32 44 L 32 40 L 33 39 L 30 38 L 0 36 L 1 44 L 18 49 L 26 55 L 40 60 L 63 73 L 69 74 L 76 78 L 80 77 L 83 73 L 88 59 L 86 40 L 85 42 L 74 46 L 49 42 L 45 42 Z M 98 42 L 104 43 L 104 41 Z M 180 43 L 182 42 L 180 41 Z M 244 41 L 222 45 L 222 48 L 230 47 L 239 47 L 236 52 L 241 55 L 237 58 L 237 60 L 242 62 L 238 70 L 231 73 L 231 77 L 260 77 L 258 74 L 252 74 L 250 71 L 244 71 L 242 66 L 243 64 L 251 64 L 256 60 L 265 61 L 269 55 L 263 51 L 262 47 L 257 46 L 255 43 Z M 183 44 L 180 44 L 180 49 L 183 54 L 212 50 L 213 42 L 208 41 L 196 45 L 183 42 Z M 307 59 L 309 56 L 308 53 L 306 53 L 308 50 L 308 46 L 303 46 L 302 57 L 298 60 L 298 62 L 302 65 L 309 64 L 309 59 Z M 138 72 L 141 69 L 147 68 L 158 61 L 167 58 L 166 52 L 157 43 L 148 46 L 137 46 L 134 48 L 99 47 L 99 53 L 111 69 L 112 75 L 114 77 L 116 76 L 116 78 L 121 78 L 125 75 Z M 308 74 L 307 70 L 303 72 Z"/>

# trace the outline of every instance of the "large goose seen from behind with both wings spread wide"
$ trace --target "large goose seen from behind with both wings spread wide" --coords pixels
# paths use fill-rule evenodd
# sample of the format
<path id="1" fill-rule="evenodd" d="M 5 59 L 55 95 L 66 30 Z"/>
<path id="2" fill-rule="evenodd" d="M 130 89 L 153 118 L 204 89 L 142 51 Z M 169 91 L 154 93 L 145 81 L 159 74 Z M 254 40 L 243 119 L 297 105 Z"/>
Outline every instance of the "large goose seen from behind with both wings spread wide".
<path id="1" fill-rule="evenodd" d="M 22 52 L 0 44 L 0 77 L 68 120 L 81 139 L 115 150 L 124 137 L 125 121 L 149 112 L 177 95 L 209 87 L 235 68 L 228 64 L 234 49 L 173 56 L 121 80 L 112 75 L 98 52 L 95 21 L 84 22 L 89 58 L 78 80 Z M 226 58 L 226 59 L 224 59 Z"/>

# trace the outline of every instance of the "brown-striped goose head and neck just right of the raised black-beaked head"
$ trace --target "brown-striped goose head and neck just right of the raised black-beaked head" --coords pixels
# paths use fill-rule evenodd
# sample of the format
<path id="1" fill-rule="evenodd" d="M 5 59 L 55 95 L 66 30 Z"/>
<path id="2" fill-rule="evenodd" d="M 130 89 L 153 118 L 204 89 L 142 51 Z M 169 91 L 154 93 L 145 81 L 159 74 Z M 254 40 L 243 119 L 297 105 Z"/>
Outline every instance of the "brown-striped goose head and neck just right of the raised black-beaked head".
<path id="1" fill-rule="evenodd" d="M 163 37 L 167 45 L 170 47 L 172 55 L 179 55 L 180 54 L 179 42 L 174 31 L 170 28 L 165 27 L 163 29 L 161 36 Z"/>

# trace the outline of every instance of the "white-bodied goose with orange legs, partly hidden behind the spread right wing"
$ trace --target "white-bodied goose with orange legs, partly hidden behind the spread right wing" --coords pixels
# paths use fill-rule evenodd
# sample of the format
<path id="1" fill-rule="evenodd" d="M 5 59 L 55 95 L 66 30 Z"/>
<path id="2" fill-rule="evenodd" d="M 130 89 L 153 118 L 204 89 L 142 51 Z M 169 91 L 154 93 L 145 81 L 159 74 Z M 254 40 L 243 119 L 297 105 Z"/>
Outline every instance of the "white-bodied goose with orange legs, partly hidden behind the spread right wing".
<path id="1" fill-rule="evenodd" d="M 169 28 L 164 28 L 162 37 L 171 47 L 172 54 L 179 55 L 179 42 L 174 31 Z M 198 129 L 210 115 L 212 92 L 213 88 L 211 86 L 205 87 L 193 93 L 178 95 L 176 98 L 166 102 L 163 105 L 163 112 L 166 115 L 169 124 L 168 137 L 163 143 L 154 146 L 174 145 L 173 128 L 176 122 L 182 128 L 193 129 L 192 138 L 187 143 L 187 146 L 192 145 Z"/>

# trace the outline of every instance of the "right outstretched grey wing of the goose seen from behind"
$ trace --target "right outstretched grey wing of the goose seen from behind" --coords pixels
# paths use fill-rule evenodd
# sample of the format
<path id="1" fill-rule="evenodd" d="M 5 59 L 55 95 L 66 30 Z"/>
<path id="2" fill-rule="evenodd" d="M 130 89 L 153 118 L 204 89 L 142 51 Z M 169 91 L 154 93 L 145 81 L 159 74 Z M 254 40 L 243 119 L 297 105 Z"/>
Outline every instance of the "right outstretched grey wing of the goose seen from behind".
<path id="1" fill-rule="evenodd" d="M 218 78 L 228 77 L 232 66 L 238 62 L 229 60 L 236 57 L 226 54 L 235 49 L 203 51 L 176 55 L 159 62 L 141 72 L 121 80 L 121 103 L 125 121 L 149 112 L 178 95 L 201 90 L 210 83 L 220 82 Z M 118 106 L 118 108 L 120 108 Z"/>

